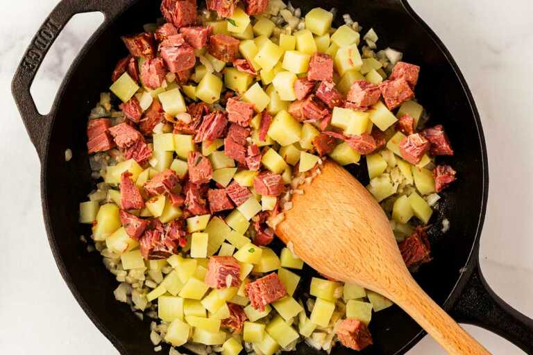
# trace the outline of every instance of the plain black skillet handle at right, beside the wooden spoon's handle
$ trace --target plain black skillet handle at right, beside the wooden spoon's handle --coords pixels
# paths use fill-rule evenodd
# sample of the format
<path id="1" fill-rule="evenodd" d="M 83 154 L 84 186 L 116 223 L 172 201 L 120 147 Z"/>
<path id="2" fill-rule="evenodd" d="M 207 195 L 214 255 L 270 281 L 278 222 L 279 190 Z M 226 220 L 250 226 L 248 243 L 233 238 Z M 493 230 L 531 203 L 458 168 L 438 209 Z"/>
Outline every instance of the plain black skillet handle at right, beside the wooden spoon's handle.
<path id="1" fill-rule="evenodd" d="M 533 354 L 533 320 L 505 303 L 484 279 L 476 255 L 475 265 L 455 306 L 450 310 L 458 322 L 492 331 Z"/>

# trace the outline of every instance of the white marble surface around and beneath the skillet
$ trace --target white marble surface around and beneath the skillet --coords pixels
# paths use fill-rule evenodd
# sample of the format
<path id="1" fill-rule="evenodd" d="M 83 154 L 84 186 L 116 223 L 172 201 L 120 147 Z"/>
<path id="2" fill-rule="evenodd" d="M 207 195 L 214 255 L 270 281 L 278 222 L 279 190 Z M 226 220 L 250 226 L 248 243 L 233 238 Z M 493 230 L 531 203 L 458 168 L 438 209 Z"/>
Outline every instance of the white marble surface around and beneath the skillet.
<path id="1" fill-rule="evenodd" d="M 0 21 L 1 354 L 117 354 L 69 293 L 42 222 L 39 162 L 10 94 L 24 49 L 57 0 L 7 1 Z M 155 1 L 155 0 L 154 0 Z M 482 269 L 504 300 L 533 317 L 533 8 L 493 0 L 411 0 L 448 46 L 480 110 L 491 189 L 481 242 Z M 53 98 L 71 56 L 99 15 L 62 35 L 40 73 L 35 99 Z M 93 25 L 94 26 L 94 25 Z M 466 326 L 494 354 L 523 354 L 487 331 Z M 409 354 L 444 354 L 425 337 Z"/>

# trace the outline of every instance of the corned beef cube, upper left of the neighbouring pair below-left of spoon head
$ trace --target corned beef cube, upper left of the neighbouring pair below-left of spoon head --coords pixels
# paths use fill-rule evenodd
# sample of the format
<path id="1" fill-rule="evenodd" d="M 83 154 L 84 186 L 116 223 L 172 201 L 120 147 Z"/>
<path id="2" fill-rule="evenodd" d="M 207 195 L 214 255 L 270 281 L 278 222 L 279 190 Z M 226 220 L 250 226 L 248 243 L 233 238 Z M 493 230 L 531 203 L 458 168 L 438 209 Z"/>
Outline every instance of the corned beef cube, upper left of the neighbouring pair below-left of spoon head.
<path id="1" fill-rule="evenodd" d="M 241 265 L 234 257 L 214 255 L 209 258 L 204 282 L 211 288 L 236 287 L 241 284 Z"/>

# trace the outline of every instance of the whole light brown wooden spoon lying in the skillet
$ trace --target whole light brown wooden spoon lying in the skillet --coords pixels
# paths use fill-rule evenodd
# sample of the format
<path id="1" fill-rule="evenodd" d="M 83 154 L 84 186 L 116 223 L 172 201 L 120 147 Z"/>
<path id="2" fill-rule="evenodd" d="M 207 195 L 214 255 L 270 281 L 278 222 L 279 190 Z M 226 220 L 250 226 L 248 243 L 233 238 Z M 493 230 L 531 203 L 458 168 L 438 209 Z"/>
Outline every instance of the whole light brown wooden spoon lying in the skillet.
<path id="1" fill-rule="evenodd" d="M 358 284 L 398 304 L 449 354 L 490 354 L 411 277 L 378 202 L 344 168 L 327 160 L 276 234 L 323 275 Z"/>

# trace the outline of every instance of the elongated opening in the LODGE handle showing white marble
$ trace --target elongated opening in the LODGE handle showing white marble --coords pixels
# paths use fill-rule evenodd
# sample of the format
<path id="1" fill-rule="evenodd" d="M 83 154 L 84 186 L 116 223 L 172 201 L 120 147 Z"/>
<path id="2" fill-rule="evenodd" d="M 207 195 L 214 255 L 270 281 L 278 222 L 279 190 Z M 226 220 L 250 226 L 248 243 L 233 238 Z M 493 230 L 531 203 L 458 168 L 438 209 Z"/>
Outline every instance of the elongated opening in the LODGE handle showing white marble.
<path id="1" fill-rule="evenodd" d="M 71 17 L 53 42 L 30 87 L 30 94 L 40 114 L 45 115 L 50 112 L 58 89 L 74 58 L 103 20 L 102 12 L 76 14 Z"/>

